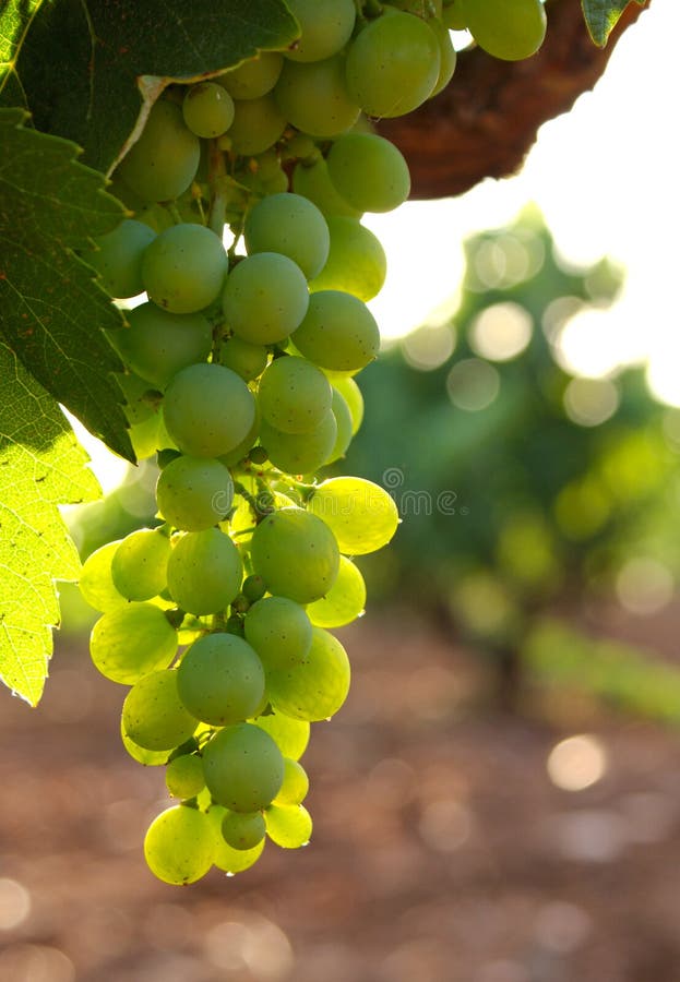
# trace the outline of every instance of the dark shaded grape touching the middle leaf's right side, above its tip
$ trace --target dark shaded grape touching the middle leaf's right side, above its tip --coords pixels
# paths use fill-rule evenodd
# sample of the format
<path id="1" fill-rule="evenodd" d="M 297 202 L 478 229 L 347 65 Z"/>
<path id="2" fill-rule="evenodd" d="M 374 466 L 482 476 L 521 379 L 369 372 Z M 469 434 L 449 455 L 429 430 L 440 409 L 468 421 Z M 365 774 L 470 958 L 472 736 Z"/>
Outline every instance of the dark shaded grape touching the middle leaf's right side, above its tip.
<path id="1" fill-rule="evenodd" d="M 213 346 L 208 321 L 200 313 L 176 314 L 146 302 L 126 311 L 130 327 L 108 337 L 126 362 L 163 390 L 180 369 L 205 361 Z"/>

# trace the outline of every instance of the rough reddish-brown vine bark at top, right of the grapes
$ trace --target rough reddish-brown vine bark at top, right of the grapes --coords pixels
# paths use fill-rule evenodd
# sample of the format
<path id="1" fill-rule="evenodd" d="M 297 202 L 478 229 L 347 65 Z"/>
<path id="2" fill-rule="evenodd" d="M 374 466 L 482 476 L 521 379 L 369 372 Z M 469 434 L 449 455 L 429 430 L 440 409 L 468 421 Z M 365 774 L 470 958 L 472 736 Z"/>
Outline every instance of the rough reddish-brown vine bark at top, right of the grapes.
<path id="1" fill-rule="evenodd" d="M 461 194 L 485 177 L 516 171 L 538 128 L 593 88 L 617 40 L 643 8 L 630 3 L 605 49 L 590 40 L 578 0 L 550 0 L 546 40 L 533 58 L 508 62 L 462 51 L 446 88 L 416 112 L 377 130 L 402 151 L 411 197 Z"/>

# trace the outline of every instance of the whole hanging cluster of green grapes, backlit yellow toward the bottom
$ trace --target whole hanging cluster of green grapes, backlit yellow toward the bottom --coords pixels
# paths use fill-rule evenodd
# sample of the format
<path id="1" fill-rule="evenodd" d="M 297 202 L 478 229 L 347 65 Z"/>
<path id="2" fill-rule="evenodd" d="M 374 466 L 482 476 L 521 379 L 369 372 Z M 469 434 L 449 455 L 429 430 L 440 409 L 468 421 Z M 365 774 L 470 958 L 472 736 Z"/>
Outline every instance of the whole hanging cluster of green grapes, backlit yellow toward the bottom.
<path id="1" fill-rule="evenodd" d="M 379 349 L 385 256 L 360 218 L 409 193 L 370 118 L 440 92 L 453 14 L 499 4 L 288 5 L 289 50 L 153 105 L 114 176 L 134 217 L 85 256 L 111 297 L 146 295 L 111 343 L 160 524 L 94 552 L 81 591 L 95 666 L 129 686 L 122 742 L 178 802 L 145 838 L 171 884 L 309 840 L 299 758 L 349 686 L 331 630 L 363 610 L 354 556 L 398 523 L 377 484 L 317 477 L 360 426 L 355 375 Z"/>

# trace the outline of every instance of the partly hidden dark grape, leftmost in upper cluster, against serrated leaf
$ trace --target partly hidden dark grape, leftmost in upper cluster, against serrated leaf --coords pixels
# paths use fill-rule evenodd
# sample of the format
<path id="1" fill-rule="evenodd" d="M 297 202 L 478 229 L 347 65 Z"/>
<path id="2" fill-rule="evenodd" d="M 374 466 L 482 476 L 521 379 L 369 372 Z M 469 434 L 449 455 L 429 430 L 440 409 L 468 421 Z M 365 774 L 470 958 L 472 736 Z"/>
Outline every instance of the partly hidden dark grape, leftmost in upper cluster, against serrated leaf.
<path id="1" fill-rule="evenodd" d="M 111 297 L 136 297 L 144 290 L 142 255 L 155 238 L 148 225 L 124 218 L 114 231 L 96 238 L 96 251 L 83 253 L 83 259 L 97 271 Z"/>

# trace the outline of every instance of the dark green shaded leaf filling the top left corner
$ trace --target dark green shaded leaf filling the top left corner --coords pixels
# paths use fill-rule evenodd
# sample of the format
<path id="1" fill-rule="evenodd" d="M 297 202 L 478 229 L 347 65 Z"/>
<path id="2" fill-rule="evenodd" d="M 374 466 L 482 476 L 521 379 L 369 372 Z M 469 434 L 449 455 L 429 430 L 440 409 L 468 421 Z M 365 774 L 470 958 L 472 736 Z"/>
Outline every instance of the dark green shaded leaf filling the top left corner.
<path id="1" fill-rule="evenodd" d="M 0 105 L 21 94 L 39 130 L 74 140 L 108 172 L 170 81 L 214 74 L 298 35 L 283 0 L 9 0 Z"/>

